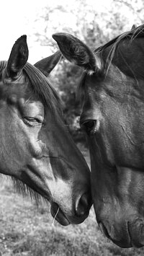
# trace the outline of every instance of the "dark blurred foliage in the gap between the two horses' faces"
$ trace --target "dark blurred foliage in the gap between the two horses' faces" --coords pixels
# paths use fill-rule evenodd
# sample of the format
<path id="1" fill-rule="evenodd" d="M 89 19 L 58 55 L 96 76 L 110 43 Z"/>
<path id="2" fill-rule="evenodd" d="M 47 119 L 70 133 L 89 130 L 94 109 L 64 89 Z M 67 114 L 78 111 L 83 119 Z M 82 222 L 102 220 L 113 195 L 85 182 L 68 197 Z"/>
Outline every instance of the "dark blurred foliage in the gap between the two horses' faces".
<path id="1" fill-rule="evenodd" d="M 58 93 L 63 102 L 63 115 L 75 140 L 84 140 L 83 132 L 79 127 L 79 116 L 81 114 L 81 102 L 76 93 L 77 84 L 81 78 L 81 69 L 68 61 L 63 61 L 53 72 L 53 79 L 56 79 Z M 53 80 L 52 79 L 52 80 Z"/>

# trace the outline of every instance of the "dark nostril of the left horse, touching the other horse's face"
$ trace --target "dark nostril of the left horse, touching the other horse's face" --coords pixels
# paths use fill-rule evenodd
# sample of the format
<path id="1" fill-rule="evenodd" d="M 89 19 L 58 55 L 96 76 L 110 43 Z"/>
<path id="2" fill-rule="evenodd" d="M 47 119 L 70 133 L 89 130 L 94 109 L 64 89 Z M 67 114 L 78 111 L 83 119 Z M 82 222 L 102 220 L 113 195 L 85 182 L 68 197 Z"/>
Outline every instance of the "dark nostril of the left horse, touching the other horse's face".
<path id="1" fill-rule="evenodd" d="M 91 197 L 89 193 L 84 193 L 81 198 L 78 199 L 76 203 L 76 215 L 84 216 L 84 214 L 89 212 L 91 206 Z"/>

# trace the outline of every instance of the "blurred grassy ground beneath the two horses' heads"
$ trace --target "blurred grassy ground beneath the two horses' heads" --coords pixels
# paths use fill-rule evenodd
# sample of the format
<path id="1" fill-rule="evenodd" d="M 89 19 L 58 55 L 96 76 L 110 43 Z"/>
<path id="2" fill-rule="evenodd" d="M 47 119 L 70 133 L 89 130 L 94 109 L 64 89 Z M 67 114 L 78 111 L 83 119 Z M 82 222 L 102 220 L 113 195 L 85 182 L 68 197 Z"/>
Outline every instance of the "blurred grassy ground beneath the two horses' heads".
<path id="1" fill-rule="evenodd" d="M 86 149 L 81 150 L 89 162 Z M 122 249 L 104 238 L 93 208 L 83 224 L 64 227 L 55 221 L 53 226 L 49 206 L 37 207 L 17 195 L 9 180 L 1 180 L 0 194 L 0 256 L 144 255 L 144 248 Z"/>

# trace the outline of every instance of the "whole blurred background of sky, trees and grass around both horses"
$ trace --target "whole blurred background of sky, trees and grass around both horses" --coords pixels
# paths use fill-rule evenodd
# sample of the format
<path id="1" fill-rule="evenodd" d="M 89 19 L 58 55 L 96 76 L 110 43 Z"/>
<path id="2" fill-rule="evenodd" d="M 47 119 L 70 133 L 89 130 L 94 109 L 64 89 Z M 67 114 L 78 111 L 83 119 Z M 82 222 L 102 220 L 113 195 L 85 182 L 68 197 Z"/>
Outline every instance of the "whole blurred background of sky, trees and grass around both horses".
<path id="1" fill-rule="evenodd" d="M 143 0 L 3 0 L 1 1 L 1 60 L 7 60 L 12 45 L 27 35 L 29 62 L 58 50 L 52 38 L 55 32 L 68 32 L 83 40 L 91 50 L 113 37 L 143 24 Z M 78 120 L 81 105 L 76 87 L 81 69 L 61 61 L 50 75 L 63 101 L 63 112 L 69 130 L 89 164 L 89 151 Z M 104 238 L 96 225 L 93 208 L 84 224 L 60 226 L 42 203 L 36 206 L 30 198 L 14 192 L 7 179 L 0 183 L 0 256 L 12 255 L 144 255 L 144 249 L 122 249 Z"/>

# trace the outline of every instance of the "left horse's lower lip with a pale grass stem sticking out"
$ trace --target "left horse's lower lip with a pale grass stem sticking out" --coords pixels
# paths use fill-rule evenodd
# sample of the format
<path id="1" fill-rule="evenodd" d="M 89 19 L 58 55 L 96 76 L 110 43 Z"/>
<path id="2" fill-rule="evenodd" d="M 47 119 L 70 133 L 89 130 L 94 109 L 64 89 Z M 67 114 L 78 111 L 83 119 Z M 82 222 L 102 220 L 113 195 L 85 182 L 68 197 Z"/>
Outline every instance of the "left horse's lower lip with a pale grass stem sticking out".
<path id="1" fill-rule="evenodd" d="M 52 203 L 50 208 L 51 215 L 53 216 L 54 220 L 58 221 L 63 226 L 68 226 L 70 221 L 66 218 L 66 215 L 61 211 L 57 203 Z"/>

